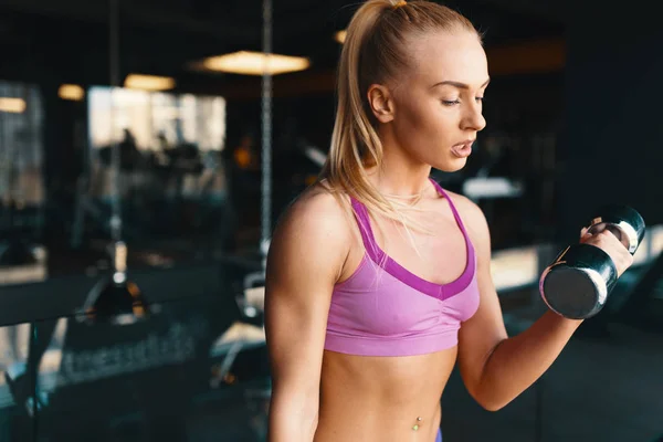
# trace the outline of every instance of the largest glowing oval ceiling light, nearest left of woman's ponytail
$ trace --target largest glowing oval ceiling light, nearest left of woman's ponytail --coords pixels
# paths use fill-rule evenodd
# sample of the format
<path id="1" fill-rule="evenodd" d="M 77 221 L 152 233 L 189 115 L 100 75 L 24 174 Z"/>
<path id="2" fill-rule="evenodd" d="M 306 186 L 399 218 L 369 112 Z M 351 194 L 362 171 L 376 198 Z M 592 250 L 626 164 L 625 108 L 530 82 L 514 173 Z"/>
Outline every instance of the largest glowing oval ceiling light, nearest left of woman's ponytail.
<path id="1" fill-rule="evenodd" d="M 304 71 L 311 61 L 301 56 L 265 54 L 262 52 L 240 51 L 231 54 L 211 56 L 203 60 L 202 67 L 209 71 L 230 72 L 244 75 L 272 75 Z"/>

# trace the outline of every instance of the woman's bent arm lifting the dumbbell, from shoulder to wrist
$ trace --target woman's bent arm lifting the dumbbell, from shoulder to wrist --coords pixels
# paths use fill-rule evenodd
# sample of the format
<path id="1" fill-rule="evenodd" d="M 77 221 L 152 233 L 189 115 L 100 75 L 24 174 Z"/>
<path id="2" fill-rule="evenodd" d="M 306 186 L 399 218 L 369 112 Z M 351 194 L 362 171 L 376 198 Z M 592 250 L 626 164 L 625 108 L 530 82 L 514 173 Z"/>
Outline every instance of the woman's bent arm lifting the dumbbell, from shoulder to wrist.
<path id="1" fill-rule="evenodd" d="M 459 332 L 459 368 L 467 391 L 496 411 L 552 365 L 581 320 L 546 312 L 527 330 L 508 337 L 491 275 L 491 236 L 481 209 L 464 197 L 456 207 L 477 254 L 480 306 Z"/>

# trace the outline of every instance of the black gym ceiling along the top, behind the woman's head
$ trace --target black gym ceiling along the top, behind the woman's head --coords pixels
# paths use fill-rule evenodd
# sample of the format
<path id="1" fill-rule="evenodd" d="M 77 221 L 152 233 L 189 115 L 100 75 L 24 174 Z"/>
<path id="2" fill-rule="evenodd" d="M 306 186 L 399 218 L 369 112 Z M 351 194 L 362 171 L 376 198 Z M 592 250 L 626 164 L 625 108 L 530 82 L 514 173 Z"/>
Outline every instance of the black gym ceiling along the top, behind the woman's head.
<path id="1" fill-rule="evenodd" d="M 486 45 L 560 36 L 551 1 L 451 0 L 486 33 Z M 549 4 L 546 4 L 549 3 Z M 274 0 L 273 50 L 309 56 L 312 71 L 333 69 L 333 40 L 358 2 Z M 175 75 L 183 83 L 232 81 L 189 72 L 188 62 L 238 50 L 260 50 L 262 0 L 119 0 L 120 67 Z M 108 75 L 108 2 L 0 0 L 0 78 L 104 84 Z M 180 82 L 181 83 L 181 82 Z"/>

